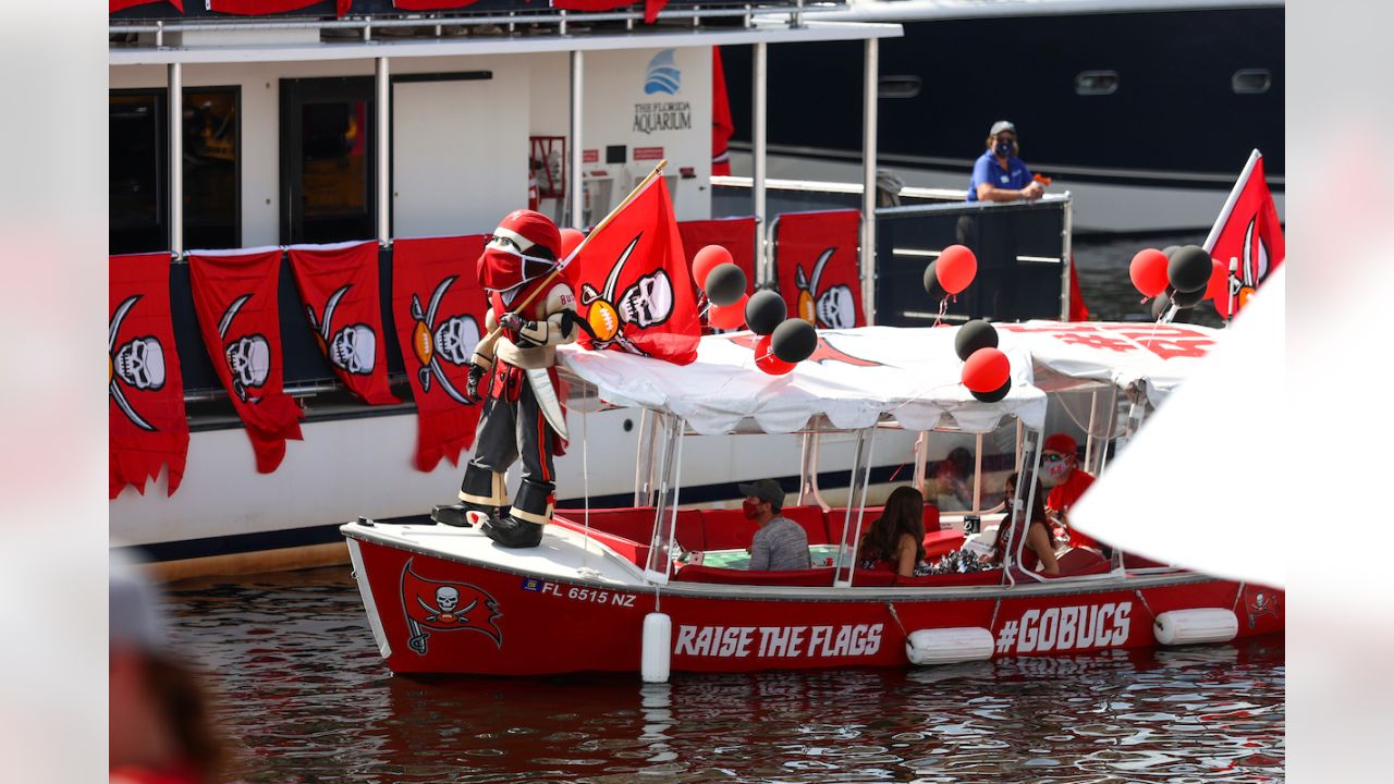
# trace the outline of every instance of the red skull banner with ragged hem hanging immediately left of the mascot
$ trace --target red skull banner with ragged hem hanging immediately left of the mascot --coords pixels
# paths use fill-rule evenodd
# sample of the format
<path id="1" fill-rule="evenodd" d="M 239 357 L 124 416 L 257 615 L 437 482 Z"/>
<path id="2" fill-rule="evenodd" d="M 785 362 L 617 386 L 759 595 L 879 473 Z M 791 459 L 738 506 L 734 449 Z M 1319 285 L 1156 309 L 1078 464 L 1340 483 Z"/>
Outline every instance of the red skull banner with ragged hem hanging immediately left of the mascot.
<path id="1" fill-rule="evenodd" d="M 480 406 L 464 395 L 470 357 L 488 304 L 474 275 L 482 234 L 397 240 L 392 251 L 392 314 L 417 402 L 417 469 L 441 458 L 459 465 L 474 445 Z"/>

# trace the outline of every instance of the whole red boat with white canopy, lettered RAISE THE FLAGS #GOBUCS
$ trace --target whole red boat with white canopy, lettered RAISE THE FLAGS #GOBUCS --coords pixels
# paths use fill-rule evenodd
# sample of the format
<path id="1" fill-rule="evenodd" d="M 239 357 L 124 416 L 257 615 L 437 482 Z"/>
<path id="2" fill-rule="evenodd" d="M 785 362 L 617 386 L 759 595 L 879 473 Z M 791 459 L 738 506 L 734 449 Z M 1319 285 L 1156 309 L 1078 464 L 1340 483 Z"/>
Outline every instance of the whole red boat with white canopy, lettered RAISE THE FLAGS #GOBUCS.
<path id="1" fill-rule="evenodd" d="M 562 352 L 573 416 L 640 406 L 636 504 L 559 511 L 542 544 L 506 550 L 477 529 L 343 526 L 379 650 L 395 672 L 542 675 L 902 667 L 1117 647 L 1228 642 L 1284 629 L 1284 594 L 1108 548 L 1062 548 L 1059 575 L 1020 568 L 1020 543 L 988 571 L 901 578 L 850 552 L 880 512 L 867 504 L 875 434 L 919 432 L 907 483 L 926 487 L 934 438 L 977 446 L 963 509 L 926 505 L 933 561 L 990 552 L 1008 509 L 991 478 L 1034 472 L 1047 421 L 1082 424 L 1082 465 L 1103 470 L 1218 333 L 1189 325 L 998 325 L 1011 392 L 983 403 L 958 384 L 958 329 L 821 331 L 785 377 L 754 367 L 749 333 L 703 339 L 691 365 L 619 352 Z M 572 432 L 577 432 L 572 427 Z M 739 566 L 754 526 L 739 509 L 680 506 L 684 438 L 803 432 L 797 502 L 811 569 Z M 818 487 L 818 442 L 856 438 L 846 499 Z M 613 460 L 613 455 L 601 459 Z M 822 474 L 827 476 L 827 474 Z M 881 483 L 885 484 L 885 483 Z M 736 495 L 732 488 L 732 495 Z M 828 495 L 832 495 L 829 491 Z M 928 498 L 934 498 L 928 495 Z M 1018 537 L 1022 538 L 1022 537 Z M 1009 548 L 1011 550 L 1011 548 Z"/>

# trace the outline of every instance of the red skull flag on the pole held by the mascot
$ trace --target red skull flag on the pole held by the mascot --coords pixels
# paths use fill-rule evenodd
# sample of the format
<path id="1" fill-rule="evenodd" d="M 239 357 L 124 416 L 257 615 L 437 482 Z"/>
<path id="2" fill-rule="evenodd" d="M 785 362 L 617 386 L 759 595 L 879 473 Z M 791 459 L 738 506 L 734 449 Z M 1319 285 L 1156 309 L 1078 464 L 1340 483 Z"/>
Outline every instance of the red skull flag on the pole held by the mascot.
<path id="1" fill-rule="evenodd" d="M 570 261 L 577 312 L 595 338 L 587 349 L 618 349 L 675 364 L 697 359 L 701 324 L 691 268 L 683 255 L 668 184 L 654 177 Z"/>

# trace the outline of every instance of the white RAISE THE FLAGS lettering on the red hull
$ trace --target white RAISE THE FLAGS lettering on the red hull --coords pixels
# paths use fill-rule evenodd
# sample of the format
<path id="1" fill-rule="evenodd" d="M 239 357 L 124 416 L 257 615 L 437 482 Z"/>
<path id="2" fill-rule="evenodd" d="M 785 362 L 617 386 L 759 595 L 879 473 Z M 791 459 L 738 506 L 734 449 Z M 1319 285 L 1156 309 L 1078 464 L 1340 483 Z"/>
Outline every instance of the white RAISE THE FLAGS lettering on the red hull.
<path id="1" fill-rule="evenodd" d="M 677 628 L 675 656 L 797 658 L 875 656 L 881 624 L 841 626 L 689 626 Z"/>

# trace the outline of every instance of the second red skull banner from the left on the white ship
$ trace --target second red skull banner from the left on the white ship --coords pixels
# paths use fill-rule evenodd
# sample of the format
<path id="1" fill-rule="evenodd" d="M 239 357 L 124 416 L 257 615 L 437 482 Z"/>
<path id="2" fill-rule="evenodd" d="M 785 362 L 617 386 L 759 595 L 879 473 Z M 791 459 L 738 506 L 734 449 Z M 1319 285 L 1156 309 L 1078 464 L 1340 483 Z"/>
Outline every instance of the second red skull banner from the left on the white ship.
<path id="1" fill-rule="evenodd" d="M 188 257 L 194 311 L 217 378 L 269 474 L 300 441 L 304 412 L 286 395 L 276 310 L 280 248 L 197 251 Z"/>

